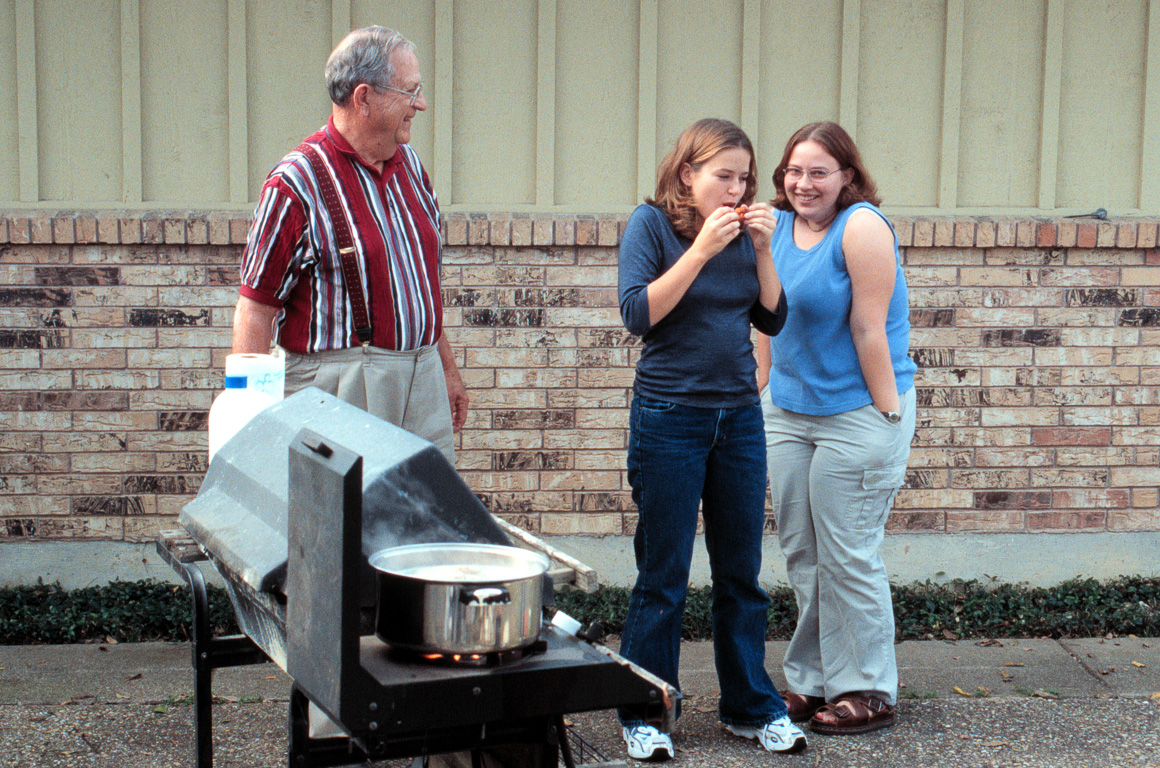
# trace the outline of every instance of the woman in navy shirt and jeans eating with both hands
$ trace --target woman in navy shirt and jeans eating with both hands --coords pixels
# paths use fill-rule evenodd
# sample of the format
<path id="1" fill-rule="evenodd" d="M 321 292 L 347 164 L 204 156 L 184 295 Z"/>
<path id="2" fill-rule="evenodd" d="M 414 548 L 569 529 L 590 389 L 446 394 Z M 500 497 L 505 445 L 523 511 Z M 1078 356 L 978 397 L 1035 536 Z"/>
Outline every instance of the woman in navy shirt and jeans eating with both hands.
<path id="1" fill-rule="evenodd" d="M 754 171 L 741 129 L 698 121 L 661 162 L 655 197 L 632 212 L 621 241 L 621 316 L 644 341 L 628 456 L 639 510 L 638 577 L 621 653 L 680 687 L 681 616 L 699 507 L 722 723 L 769 751 L 798 752 L 805 736 L 789 722 L 764 668 L 769 596 L 757 584 L 766 441 L 749 333 L 753 325 L 776 334 L 785 305 L 769 253 L 773 211 L 751 205 Z M 672 739 L 645 715 L 619 712 L 629 755 L 672 758 Z"/>

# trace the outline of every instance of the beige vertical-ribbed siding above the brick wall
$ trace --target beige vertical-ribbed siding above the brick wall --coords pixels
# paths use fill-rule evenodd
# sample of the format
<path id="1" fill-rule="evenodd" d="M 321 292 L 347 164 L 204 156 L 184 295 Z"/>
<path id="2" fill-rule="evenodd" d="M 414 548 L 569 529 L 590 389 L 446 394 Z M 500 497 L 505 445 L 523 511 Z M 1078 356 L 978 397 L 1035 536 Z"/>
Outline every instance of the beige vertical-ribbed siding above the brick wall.
<path id="1" fill-rule="evenodd" d="M 247 208 L 351 27 L 418 45 L 461 211 L 625 211 L 698 117 L 838 119 L 898 212 L 1160 207 L 1158 0 L 0 0 L 0 207 Z"/>

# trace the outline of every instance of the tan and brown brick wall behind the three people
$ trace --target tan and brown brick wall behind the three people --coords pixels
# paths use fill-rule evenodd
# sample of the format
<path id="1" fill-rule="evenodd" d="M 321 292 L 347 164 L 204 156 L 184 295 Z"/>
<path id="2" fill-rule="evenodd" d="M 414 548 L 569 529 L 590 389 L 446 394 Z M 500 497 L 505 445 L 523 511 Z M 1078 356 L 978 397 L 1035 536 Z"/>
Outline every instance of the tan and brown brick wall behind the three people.
<path id="1" fill-rule="evenodd" d="M 1160 530 L 1158 220 L 896 217 L 919 429 L 890 528 Z M 205 471 L 246 216 L 0 216 L 0 542 L 144 541 Z M 450 215 L 458 465 L 543 534 L 631 534 L 624 217 Z"/>

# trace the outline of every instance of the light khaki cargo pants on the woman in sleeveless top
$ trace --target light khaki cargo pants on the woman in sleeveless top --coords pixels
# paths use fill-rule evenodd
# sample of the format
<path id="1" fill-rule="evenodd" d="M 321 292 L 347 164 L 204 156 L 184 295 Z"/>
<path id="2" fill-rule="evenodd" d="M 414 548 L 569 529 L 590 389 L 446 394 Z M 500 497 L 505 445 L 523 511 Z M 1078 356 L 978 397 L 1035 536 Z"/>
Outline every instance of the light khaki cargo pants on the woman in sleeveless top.
<path id="1" fill-rule="evenodd" d="M 896 703 L 894 611 L 878 548 L 914 436 L 914 389 L 900 400 L 893 425 L 872 405 L 811 416 L 762 393 L 777 539 L 798 604 L 783 662 L 796 694 Z"/>

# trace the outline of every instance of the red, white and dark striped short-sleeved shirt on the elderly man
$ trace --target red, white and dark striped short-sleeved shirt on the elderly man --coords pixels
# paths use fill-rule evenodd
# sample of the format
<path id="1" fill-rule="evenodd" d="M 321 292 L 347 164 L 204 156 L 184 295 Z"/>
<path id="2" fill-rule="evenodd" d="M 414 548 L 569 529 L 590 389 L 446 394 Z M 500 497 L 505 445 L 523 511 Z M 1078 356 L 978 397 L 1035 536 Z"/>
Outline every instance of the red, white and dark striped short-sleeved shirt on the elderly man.
<path id="1" fill-rule="evenodd" d="M 347 209 L 371 345 L 435 343 L 443 331 L 440 211 L 419 157 L 399 145 L 379 173 L 358 159 L 333 119 L 306 142 L 320 152 Z M 277 341 L 289 352 L 358 346 L 331 215 L 313 166 L 297 150 L 262 186 L 241 255 L 241 295 L 283 309 Z"/>

